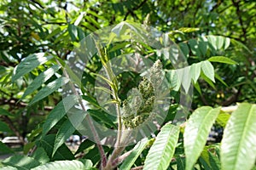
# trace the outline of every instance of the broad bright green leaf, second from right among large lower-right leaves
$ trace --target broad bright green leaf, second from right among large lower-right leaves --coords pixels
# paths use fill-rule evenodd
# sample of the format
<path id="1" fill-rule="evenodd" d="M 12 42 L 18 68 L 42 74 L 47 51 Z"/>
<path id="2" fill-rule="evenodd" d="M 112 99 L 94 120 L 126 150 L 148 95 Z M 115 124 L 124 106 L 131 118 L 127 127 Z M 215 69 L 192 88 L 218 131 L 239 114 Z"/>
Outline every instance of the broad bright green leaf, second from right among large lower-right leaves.
<path id="1" fill-rule="evenodd" d="M 192 169 L 200 156 L 219 111 L 220 107 L 212 109 L 212 107 L 203 106 L 195 110 L 189 117 L 184 131 L 186 170 Z"/>

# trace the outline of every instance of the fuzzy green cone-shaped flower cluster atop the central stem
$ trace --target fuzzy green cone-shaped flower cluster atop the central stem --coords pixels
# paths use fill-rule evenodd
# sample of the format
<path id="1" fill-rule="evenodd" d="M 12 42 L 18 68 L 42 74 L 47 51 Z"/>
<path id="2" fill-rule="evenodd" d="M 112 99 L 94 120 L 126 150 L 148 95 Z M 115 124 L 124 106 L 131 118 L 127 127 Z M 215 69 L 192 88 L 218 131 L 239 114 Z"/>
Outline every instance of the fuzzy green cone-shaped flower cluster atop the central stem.
<path id="1" fill-rule="evenodd" d="M 128 99 L 123 101 L 123 124 L 134 128 L 154 116 L 155 89 L 161 83 L 161 63 L 157 60 L 150 69 L 149 78 L 143 77 L 138 88 L 133 88 Z"/>

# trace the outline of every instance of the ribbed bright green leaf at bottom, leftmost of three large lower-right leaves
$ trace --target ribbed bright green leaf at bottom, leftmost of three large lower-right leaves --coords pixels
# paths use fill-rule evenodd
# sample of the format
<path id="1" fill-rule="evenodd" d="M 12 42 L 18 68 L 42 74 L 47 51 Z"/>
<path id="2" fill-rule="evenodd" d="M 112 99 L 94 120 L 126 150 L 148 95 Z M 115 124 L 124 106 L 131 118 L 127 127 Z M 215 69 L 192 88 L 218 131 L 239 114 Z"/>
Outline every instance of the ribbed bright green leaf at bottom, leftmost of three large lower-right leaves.
<path id="1" fill-rule="evenodd" d="M 143 169 L 167 169 L 174 154 L 178 135 L 178 127 L 172 124 L 166 124 L 162 127 L 154 141 L 154 144 L 148 151 Z"/>

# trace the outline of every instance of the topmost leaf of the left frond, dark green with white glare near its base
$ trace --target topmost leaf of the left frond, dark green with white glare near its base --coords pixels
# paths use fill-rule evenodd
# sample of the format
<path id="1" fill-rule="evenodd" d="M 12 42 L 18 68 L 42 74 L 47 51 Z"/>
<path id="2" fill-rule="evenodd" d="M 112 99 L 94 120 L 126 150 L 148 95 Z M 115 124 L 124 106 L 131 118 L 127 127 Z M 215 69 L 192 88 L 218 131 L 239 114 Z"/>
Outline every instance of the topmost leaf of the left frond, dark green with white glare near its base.
<path id="1" fill-rule="evenodd" d="M 12 82 L 15 82 L 18 78 L 32 71 L 38 65 L 43 65 L 46 61 L 52 58 L 53 56 L 44 56 L 44 53 L 28 55 L 26 59 L 22 60 L 20 64 L 15 67 Z"/>

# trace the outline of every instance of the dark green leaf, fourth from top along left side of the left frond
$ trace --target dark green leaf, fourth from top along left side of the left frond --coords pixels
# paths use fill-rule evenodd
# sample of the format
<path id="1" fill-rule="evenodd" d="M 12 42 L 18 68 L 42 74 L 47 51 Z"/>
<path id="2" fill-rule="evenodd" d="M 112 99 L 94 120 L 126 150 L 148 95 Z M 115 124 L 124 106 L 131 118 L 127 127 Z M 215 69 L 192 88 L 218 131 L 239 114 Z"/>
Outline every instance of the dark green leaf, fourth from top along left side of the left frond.
<path id="1" fill-rule="evenodd" d="M 74 95 L 67 96 L 67 98 L 62 99 L 62 101 L 55 106 L 55 108 L 49 112 L 49 116 L 46 118 L 43 125 L 44 136 L 49 130 L 55 126 L 57 122 L 61 120 L 63 116 L 66 115 L 67 111 L 77 102 L 77 97 Z"/>

